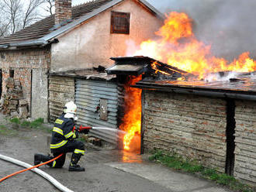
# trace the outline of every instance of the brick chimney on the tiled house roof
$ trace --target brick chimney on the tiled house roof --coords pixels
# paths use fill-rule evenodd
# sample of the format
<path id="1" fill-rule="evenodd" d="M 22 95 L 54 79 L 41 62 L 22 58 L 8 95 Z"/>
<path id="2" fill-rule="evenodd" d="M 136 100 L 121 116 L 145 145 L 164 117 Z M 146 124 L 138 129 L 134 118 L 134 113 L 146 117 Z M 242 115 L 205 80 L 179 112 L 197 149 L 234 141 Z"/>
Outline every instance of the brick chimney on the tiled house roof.
<path id="1" fill-rule="evenodd" d="M 72 19 L 72 0 L 55 0 L 55 25 Z"/>

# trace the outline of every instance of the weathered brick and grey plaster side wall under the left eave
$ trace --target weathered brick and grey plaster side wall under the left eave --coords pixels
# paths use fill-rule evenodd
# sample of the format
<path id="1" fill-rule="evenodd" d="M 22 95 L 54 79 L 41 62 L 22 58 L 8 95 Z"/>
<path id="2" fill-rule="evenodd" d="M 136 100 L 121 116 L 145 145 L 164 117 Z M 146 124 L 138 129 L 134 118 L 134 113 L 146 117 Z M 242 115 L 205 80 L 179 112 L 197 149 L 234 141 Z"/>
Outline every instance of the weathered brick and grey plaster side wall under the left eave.
<path id="1" fill-rule="evenodd" d="M 50 67 L 50 47 L 44 47 L 42 49 L 34 48 L 27 50 L 6 50 L 1 51 L 2 57 L 0 58 L 0 67 L 2 69 L 2 88 L 3 93 L 5 93 L 5 79 L 10 77 L 10 70 L 14 70 L 14 79 L 20 81 L 22 86 L 22 97 L 26 99 L 29 105 L 29 112 L 31 112 L 31 105 L 37 108 L 35 116 L 32 118 L 46 118 L 47 114 L 47 89 L 45 89 L 45 84 L 47 84 L 47 70 Z M 39 75 L 33 78 L 33 70 L 42 70 L 43 73 L 36 73 Z M 32 81 L 32 79 L 34 81 Z M 43 90 L 44 95 L 41 97 L 37 94 L 39 100 L 31 100 L 32 98 L 32 87 L 36 84 L 38 89 Z M 43 87 L 40 87 L 43 85 Z M 42 111 L 42 112 L 41 112 Z"/>

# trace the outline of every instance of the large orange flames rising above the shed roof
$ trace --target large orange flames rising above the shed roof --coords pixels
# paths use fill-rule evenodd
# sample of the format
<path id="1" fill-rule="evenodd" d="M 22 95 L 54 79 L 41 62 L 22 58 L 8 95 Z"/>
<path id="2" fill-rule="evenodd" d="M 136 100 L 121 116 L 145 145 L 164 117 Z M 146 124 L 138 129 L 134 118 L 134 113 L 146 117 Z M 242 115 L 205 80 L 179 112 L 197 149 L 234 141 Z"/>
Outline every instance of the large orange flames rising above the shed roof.
<path id="1" fill-rule="evenodd" d="M 211 46 L 195 38 L 192 33 L 192 19 L 183 12 L 171 12 L 166 15 L 164 26 L 156 35 L 157 40 L 144 41 L 140 44 L 140 50 L 133 55 L 161 60 L 172 67 L 195 74 L 199 80 L 212 72 L 256 70 L 256 61 L 249 57 L 249 52 L 242 53 L 231 63 L 223 58 L 214 57 L 210 52 Z"/>

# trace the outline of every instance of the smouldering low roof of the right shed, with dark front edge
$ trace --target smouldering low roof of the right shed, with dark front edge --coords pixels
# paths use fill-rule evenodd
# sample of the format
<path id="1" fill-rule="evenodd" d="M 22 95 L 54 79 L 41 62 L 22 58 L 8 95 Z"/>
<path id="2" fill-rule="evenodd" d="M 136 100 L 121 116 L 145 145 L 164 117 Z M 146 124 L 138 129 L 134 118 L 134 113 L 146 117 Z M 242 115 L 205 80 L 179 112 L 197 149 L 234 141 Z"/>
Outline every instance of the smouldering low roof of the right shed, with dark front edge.
<path id="1" fill-rule="evenodd" d="M 256 101 L 256 73 L 242 73 L 226 81 L 139 81 L 135 87 L 182 94 Z"/>

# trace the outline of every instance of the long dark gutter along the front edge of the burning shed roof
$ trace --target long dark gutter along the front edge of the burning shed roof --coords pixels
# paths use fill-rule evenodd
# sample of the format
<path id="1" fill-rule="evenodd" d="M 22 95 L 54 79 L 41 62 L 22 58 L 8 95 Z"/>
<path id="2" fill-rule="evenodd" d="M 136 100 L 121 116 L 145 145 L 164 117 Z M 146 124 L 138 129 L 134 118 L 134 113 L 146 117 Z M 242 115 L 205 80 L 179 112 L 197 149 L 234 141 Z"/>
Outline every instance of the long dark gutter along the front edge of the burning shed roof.
<path id="1" fill-rule="evenodd" d="M 131 87 L 141 88 L 143 90 L 154 90 L 154 91 L 165 91 L 178 94 L 195 94 L 200 96 L 207 96 L 212 98 L 236 98 L 242 100 L 256 101 L 256 94 L 237 94 L 234 92 L 220 92 L 220 91 L 204 91 L 204 90 L 194 90 L 194 89 L 185 89 L 178 87 L 160 87 L 157 85 L 145 85 L 145 84 L 136 84 Z"/>

